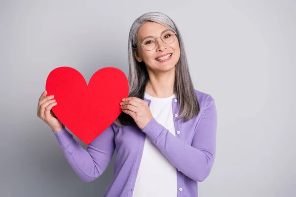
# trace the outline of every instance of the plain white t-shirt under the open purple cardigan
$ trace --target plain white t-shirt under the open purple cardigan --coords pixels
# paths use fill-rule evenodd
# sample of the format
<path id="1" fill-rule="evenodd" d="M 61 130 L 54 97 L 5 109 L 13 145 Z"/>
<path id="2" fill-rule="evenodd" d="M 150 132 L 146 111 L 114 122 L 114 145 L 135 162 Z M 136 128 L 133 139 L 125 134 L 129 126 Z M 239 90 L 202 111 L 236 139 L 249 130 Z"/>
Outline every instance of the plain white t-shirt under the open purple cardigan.
<path id="1" fill-rule="evenodd" d="M 175 94 L 168 98 L 150 99 L 153 118 L 175 134 L 172 102 Z M 177 168 L 165 157 L 158 147 L 146 136 L 143 156 L 136 179 L 133 197 L 177 197 Z"/>

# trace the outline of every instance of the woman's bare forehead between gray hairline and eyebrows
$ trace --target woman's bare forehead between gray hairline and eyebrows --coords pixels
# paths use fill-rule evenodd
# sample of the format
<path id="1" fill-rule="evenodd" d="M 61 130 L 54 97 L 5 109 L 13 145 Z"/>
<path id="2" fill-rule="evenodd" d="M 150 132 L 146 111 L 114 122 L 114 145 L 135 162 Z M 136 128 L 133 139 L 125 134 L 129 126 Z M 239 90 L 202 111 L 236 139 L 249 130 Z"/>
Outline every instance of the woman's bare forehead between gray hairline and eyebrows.
<path id="1" fill-rule="evenodd" d="M 142 39 L 143 37 L 146 36 L 154 36 L 154 37 L 158 37 L 160 35 L 160 33 L 166 29 L 169 29 L 166 26 L 163 26 L 159 23 L 155 23 L 155 22 L 146 22 L 144 23 L 144 25 L 142 25 L 142 27 L 139 29 L 138 32 L 138 39 Z"/>

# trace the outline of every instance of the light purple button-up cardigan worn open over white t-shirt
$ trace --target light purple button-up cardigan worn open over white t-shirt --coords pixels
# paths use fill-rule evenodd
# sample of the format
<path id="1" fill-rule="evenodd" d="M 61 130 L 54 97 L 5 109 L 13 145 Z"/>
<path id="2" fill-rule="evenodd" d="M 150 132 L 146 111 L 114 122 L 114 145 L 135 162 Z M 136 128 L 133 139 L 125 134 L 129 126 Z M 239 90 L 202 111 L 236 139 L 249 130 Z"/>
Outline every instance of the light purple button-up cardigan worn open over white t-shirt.
<path id="1" fill-rule="evenodd" d="M 104 172 L 116 148 L 114 177 L 104 197 L 133 196 L 146 135 L 176 166 L 178 197 L 197 197 L 197 182 L 207 178 L 215 160 L 217 112 L 211 95 L 197 90 L 195 93 L 200 112 L 186 123 L 177 119 L 178 99 L 172 100 L 176 136 L 154 118 L 143 130 L 136 126 L 117 127 L 112 123 L 86 150 L 65 126 L 53 133 L 67 161 L 84 182 L 93 181 Z M 144 100 L 150 106 L 151 100 Z"/>

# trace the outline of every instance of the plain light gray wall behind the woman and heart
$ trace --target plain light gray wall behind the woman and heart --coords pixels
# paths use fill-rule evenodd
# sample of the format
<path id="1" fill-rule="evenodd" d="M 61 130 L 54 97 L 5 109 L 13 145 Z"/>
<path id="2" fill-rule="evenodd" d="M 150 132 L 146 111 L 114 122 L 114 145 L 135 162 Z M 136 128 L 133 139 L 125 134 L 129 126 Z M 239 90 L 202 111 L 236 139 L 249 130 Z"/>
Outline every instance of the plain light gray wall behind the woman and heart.
<path id="1" fill-rule="evenodd" d="M 59 66 L 87 82 L 106 66 L 128 75 L 128 32 L 149 11 L 176 22 L 195 89 L 216 100 L 217 157 L 199 196 L 296 196 L 295 0 L 1 0 L 1 197 L 103 195 L 115 154 L 82 182 L 37 101 Z"/>

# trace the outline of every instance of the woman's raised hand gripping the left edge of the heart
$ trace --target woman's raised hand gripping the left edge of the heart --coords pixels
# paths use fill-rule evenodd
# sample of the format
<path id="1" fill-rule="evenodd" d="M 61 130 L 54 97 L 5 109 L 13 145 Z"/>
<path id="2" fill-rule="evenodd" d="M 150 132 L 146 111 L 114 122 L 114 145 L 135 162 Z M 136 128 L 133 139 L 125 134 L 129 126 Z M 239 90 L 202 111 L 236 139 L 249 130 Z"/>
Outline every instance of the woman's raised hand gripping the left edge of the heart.
<path id="1" fill-rule="evenodd" d="M 54 95 L 48 96 L 45 90 L 39 98 L 37 116 L 43 120 L 54 132 L 61 131 L 63 124 L 52 112 L 52 107 L 57 105 Z"/>

